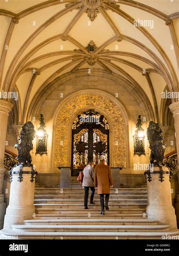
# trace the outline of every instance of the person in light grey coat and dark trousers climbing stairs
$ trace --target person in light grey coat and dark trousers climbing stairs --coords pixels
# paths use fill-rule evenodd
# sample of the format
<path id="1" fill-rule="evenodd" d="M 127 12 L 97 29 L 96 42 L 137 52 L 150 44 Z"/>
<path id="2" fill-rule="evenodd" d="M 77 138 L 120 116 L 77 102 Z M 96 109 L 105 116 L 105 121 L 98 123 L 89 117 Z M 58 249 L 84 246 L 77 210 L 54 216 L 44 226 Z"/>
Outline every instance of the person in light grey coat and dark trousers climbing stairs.
<path id="1" fill-rule="evenodd" d="M 84 206 L 85 209 L 88 208 L 88 195 L 89 195 L 89 188 L 91 189 L 91 197 L 90 197 L 90 204 L 94 204 L 93 198 L 94 198 L 94 163 L 89 162 L 88 165 L 83 170 L 83 184 L 82 186 L 85 189 L 85 198 L 84 198 Z"/>

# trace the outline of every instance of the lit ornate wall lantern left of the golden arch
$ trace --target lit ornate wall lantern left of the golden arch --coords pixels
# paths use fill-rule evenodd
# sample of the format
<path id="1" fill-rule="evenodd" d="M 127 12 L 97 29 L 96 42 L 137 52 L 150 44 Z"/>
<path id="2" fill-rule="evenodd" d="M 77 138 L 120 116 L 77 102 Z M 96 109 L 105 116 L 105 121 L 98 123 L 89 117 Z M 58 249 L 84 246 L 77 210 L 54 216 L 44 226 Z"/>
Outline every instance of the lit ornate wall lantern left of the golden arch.
<path id="1" fill-rule="evenodd" d="M 40 127 L 37 129 L 37 144 L 36 144 L 36 154 L 47 154 L 47 133 L 45 128 L 45 122 L 43 115 L 40 114 Z"/>

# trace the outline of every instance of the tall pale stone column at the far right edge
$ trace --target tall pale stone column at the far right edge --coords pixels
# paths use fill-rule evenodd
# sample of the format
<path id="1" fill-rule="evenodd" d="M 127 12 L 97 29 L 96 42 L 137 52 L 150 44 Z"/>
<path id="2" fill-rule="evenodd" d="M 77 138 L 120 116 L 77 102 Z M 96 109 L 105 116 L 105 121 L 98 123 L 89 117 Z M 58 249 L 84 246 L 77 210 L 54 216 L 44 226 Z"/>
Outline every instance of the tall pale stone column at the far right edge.
<path id="1" fill-rule="evenodd" d="M 177 172 L 178 183 L 179 183 L 179 101 L 170 104 L 169 108 L 170 108 L 171 112 L 173 113 L 174 124 L 175 124 L 176 150 L 177 150 L 177 158 L 178 158 L 178 165 L 177 165 L 176 172 Z M 179 184 L 178 184 L 178 188 L 179 188 Z M 177 225 L 179 228 L 179 192 L 178 192 L 177 198 L 176 198 L 175 212 L 176 212 L 176 216 L 177 216 Z"/>

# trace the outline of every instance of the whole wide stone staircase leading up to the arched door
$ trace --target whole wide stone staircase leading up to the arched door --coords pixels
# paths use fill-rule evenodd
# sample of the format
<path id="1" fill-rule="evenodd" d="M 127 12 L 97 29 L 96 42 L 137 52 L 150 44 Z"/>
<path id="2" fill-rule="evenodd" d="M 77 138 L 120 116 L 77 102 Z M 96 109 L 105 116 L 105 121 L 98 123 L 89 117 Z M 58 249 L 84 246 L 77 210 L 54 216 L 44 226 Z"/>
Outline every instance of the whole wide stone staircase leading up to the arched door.
<path id="1" fill-rule="evenodd" d="M 85 210 L 84 189 L 76 178 L 71 178 L 70 188 L 63 189 L 36 183 L 35 217 L 25 220 L 24 225 L 13 225 L 12 230 L 3 229 L 2 234 L 18 239 L 161 239 L 165 234 L 179 235 L 169 231 L 168 225 L 147 219 L 146 187 L 112 188 L 110 210 L 100 215 L 97 191 L 95 204 L 88 204 L 89 209 Z"/>

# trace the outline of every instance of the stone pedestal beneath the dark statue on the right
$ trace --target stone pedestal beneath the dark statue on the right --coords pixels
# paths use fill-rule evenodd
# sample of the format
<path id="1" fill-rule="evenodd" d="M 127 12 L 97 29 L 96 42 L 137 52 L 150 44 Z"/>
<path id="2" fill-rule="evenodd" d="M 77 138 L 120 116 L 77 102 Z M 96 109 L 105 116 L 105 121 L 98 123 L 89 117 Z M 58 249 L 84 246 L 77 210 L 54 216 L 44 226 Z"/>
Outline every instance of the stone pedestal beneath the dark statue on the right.
<path id="1" fill-rule="evenodd" d="M 167 167 L 162 167 L 163 171 L 169 171 Z M 154 172 L 160 171 L 159 167 L 154 167 Z M 164 225 L 170 225 L 170 229 L 177 229 L 176 215 L 171 201 L 171 185 L 169 174 L 164 173 L 164 181 L 159 181 L 159 173 L 150 173 L 151 181 L 147 178 L 148 205 L 146 213 L 149 220 L 159 220 Z"/>

